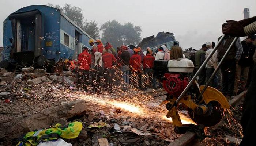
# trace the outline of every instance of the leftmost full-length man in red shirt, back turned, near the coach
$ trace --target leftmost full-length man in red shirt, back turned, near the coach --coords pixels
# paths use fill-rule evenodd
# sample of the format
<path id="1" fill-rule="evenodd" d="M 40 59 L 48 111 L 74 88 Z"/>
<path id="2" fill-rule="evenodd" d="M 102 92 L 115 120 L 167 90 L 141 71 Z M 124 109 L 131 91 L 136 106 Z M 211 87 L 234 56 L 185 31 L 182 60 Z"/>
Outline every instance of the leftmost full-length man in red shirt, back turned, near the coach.
<path id="1" fill-rule="evenodd" d="M 78 55 L 78 75 L 76 84 L 77 87 L 83 87 L 84 91 L 87 91 L 90 65 L 91 55 L 88 53 L 88 48 L 83 47 L 83 52 Z"/>

